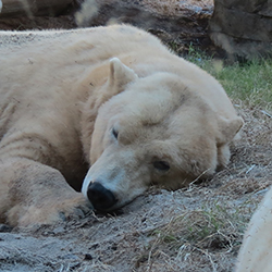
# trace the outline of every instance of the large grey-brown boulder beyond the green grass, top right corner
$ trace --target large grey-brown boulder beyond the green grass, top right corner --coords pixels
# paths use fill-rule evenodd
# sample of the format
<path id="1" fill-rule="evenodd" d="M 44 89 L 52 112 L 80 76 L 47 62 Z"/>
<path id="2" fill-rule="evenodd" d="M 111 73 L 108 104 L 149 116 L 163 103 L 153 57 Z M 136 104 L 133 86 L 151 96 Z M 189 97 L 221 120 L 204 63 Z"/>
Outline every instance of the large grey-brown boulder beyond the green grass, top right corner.
<path id="1" fill-rule="evenodd" d="M 210 37 L 231 55 L 272 53 L 271 0 L 214 0 Z"/>

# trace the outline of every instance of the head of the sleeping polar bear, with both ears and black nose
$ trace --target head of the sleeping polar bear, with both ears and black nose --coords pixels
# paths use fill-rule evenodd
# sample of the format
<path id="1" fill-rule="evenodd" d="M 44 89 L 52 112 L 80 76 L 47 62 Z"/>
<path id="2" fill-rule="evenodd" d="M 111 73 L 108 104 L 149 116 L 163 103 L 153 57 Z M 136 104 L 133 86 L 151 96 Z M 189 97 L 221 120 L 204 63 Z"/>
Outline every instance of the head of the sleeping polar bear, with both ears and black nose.
<path id="1" fill-rule="evenodd" d="M 217 116 L 178 75 L 140 78 L 118 59 L 110 65 L 116 95 L 99 108 L 82 187 L 95 209 L 118 209 L 150 185 L 183 187 L 227 162 L 240 119 Z"/>

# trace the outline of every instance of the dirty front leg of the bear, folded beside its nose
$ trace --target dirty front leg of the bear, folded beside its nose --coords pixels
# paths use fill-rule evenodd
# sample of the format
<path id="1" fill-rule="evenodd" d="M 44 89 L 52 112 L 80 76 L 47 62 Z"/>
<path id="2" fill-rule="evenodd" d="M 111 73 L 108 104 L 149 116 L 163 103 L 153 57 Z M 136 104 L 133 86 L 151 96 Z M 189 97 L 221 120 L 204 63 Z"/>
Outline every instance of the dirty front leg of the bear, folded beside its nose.
<path id="1" fill-rule="evenodd" d="M 82 194 L 58 170 L 24 158 L 0 160 L 2 221 L 20 226 L 50 224 L 79 207 L 88 209 Z"/>

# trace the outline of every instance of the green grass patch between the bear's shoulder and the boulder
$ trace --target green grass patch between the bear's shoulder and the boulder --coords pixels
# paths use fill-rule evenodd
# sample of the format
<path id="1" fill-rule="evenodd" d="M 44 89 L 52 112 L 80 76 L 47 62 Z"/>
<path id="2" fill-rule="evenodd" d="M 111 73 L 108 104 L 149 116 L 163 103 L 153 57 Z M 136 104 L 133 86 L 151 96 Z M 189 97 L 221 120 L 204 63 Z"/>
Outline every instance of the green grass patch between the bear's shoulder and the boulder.
<path id="1" fill-rule="evenodd" d="M 242 100 L 248 107 L 272 110 L 271 59 L 227 65 L 194 49 L 186 59 L 213 75 L 232 99 Z"/>

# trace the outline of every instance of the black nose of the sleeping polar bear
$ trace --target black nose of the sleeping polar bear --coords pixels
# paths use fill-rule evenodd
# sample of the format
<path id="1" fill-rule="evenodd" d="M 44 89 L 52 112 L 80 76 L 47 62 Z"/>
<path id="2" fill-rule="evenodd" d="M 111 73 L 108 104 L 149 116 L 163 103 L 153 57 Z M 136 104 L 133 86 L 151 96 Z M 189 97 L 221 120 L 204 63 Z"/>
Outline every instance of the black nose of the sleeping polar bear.
<path id="1" fill-rule="evenodd" d="M 110 210 L 118 202 L 114 195 L 100 183 L 91 183 L 87 196 L 94 208 L 99 211 Z"/>

